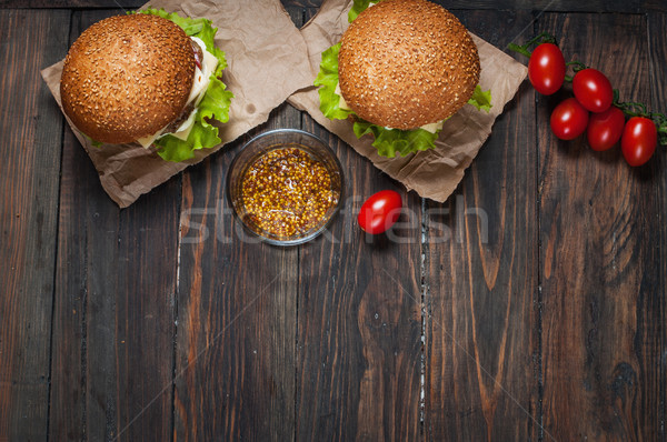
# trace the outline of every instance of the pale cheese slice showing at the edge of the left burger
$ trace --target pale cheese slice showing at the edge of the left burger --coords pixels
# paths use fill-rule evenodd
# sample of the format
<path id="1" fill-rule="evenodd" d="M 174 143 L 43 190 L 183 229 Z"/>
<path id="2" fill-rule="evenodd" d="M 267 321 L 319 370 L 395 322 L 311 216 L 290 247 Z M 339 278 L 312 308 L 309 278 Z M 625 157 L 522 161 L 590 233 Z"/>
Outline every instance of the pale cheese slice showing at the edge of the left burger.
<path id="1" fill-rule="evenodd" d="M 208 89 L 209 83 L 211 82 L 211 74 L 216 71 L 218 67 L 218 59 L 216 56 L 206 50 L 206 44 L 203 41 L 198 39 L 197 37 L 190 37 L 192 41 L 195 41 L 203 53 L 203 60 L 201 61 L 201 69 L 199 67 L 195 67 L 195 80 L 192 81 L 192 89 L 190 90 L 190 94 L 188 96 L 188 102 L 186 107 L 193 103 L 195 109 L 190 112 L 190 115 L 178 127 L 176 132 L 172 133 L 163 133 L 167 128 L 160 129 L 158 132 L 153 133 L 149 137 L 143 137 L 138 139 L 137 141 L 143 145 L 143 148 L 149 148 L 158 138 L 171 134 L 180 140 L 186 141 L 190 135 L 190 131 L 195 125 L 195 118 L 197 117 L 197 106 L 206 94 L 206 90 Z"/>

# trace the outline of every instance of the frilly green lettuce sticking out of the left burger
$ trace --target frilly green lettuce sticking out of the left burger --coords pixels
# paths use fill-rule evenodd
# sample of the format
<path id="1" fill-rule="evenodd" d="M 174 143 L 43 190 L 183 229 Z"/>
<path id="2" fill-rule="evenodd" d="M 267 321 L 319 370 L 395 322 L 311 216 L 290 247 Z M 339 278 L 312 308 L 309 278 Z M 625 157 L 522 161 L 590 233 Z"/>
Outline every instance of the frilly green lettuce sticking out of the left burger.
<path id="1" fill-rule="evenodd" d="M 221 140 L 218 137 L 218 128 L 210 124 L 207 119 L 218 120 L 221 123 L 229 121 L 229 107 L 233 94 L 226 90 L 227 87 L 219 77 L 222 70 L 227 68 L 225 52 L 216 48 L 215 37 L 218 28 L 212 27 L 210 20 L 199 18 L 183 18 L 176 12 L 169 13 L 163 9 L 148 8 L 138 11 L 140 13 L 150 13 L 173 21 L 188 37 L 197 37 L 206 44 L 207 51 L 218 59 L 216 72 L 211 73 L 210 83 L 206 93 L 197 107 L 195 125 L 187 141 L 180 140 L 173 135 L 165 135 L 153 143 L 158 148 L 158 154 L 167 161 L 185 161 L 195 157 L 198 149 L 210 149 L 218 145 Z"/>

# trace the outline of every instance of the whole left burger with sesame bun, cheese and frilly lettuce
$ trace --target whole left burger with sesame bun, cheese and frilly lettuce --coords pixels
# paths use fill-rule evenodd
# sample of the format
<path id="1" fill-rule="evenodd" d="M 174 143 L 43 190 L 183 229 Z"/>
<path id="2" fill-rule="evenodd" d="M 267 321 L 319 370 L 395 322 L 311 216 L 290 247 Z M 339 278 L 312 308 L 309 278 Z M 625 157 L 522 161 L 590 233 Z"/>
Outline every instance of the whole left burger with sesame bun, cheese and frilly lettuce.
<path id="1" fill-rule="evenodd" d="M 70 48 L 60 96 L 72 124 L 96 145 L 139 143 L 168 161 L 220 143 L 232 93 L 206 19 L 147 9 L 88 28 Z"/>

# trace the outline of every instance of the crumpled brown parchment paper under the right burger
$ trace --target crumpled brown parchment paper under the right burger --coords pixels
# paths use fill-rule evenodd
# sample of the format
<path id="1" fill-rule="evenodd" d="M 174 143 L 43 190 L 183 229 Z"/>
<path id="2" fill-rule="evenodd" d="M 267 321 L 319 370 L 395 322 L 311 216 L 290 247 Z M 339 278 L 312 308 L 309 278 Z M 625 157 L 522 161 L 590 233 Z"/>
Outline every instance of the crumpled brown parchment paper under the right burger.
<path id="1" fill-rule="evenodd" d="M 301 28 L 313 72 L 319 71 L 322 51 L 340 41 L 348 27 L 347 14 L 351 4 L 352 0 L 327 0 L 317 16 Z M 371 145 L 371 137 L 366 135 L 359 140 L 352 132 L 350 121 L 329 120 L 320 112 L 315 87 L 296 92 L 288 101 L 297 109 L 308 111 L 317 122 L 370 159 L 377 168 L 400 181 L 408 190 L 415 190 L 420 197 L 444 202 L 456 190 L 465 170 L 491 133 L 496 118 L 514 98 L 527 76 L 524 64 L 479 37 L 471 37 L 479 50 L 481 62 L 479 83 L 482 90 L 491 90 L 494 107 L 487 113 L 466 104 L 445 122 L 436 141 L 436 149 L 402 158 L 380 157 Z"/>

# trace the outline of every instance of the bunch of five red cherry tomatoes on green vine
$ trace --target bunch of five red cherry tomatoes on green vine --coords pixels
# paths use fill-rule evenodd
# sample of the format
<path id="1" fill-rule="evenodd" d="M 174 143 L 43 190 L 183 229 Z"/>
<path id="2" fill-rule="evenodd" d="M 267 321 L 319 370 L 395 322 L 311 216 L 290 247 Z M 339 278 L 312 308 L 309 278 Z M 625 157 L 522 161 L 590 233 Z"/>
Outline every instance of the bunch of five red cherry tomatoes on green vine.
<path id="1" fill-rule="evenodd" d="M 630 165 L 646 163 L 658 142 L 667 145 L 664 113 L 650 111 L 644 103 L 620 101 L 618 89 L 611 88 L 603 72 L 578 60 L 565 62 L 554 36 L 542 32 L 508 48 L 528 57 L 528 78 L 537 92 L 550 96 L 565 82 L 573 84 L 575 98 L 566 99 L 551 113 L 551 131 L 557 138 L 571 140 L 586 132 L 594 150 L 607 150 L 620 141 Z"/>

